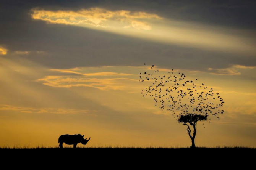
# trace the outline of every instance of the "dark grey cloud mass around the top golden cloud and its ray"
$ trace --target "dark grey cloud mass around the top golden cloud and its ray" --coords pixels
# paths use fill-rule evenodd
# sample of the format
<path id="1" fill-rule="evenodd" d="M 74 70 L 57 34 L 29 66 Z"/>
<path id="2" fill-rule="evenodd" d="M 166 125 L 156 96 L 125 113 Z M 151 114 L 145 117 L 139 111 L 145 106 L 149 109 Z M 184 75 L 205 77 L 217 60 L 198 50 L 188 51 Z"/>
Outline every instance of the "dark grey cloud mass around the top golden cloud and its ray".
<path id="1" fill-rule="evenodd" d="M 256 63 L 255 56 L 165 45 L 81 27 L 46 24 L 32 20 L 29 13 L 36 7 L 47 10 L 101 7 L 146 11 L 164 18 L 253 30 L 256 27 L 255 6 L 254 1 L 6 1 L 0 7 L 0 44 L 8 48 L 9 54 L 17 50 L 45 51 L 47 55 L 30 53 L 23 57 L 51 68 L 134 66 L 144 62 L 195 70 L 225 68 L 231 64 L 252 66 Z"/>

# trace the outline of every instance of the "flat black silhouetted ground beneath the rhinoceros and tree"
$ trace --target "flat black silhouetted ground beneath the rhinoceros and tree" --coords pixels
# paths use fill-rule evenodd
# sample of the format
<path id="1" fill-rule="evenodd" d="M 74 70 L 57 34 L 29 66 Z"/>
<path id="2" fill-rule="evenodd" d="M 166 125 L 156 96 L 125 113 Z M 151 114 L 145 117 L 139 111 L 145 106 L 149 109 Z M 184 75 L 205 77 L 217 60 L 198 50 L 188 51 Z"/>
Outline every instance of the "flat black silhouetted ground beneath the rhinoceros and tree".
<path id="1" fill-rule="evenodd" d="M 37 165 L 40 163 L 41 166 L 81 163 L 82 167 L 88 164 L 96 167 L 122 165 L 144 168 L 157 165 L 157 169 L 176 165 L 181 168 L 191 164 L 194 164 L 194 167 L 241 166 L 244 169 L 249 165 L 255 167 L 255 154 L 256 148 L 0 148 L 2 164 L 15 160 L 16 163 L 23 165 L 24 162 L 33 162 Z M 163 167 L 160 168 L 161 166 Z"/>

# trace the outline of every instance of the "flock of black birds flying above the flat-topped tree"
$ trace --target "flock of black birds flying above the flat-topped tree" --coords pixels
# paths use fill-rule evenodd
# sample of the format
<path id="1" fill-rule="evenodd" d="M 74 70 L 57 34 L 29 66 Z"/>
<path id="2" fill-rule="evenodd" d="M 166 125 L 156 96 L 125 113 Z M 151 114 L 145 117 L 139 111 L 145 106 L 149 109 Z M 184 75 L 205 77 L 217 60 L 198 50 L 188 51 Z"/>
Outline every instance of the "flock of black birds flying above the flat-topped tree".
<path id="1" fill-rule="evenodd" d="M 185 74 L 180 72 L 177 74 L 173 69 L 161 75 L 154 65 L 151 69 L 140 73 L 139 77 L 139 82 L 152 82 L 149 87 L 142 90 L 141 94 L 154 98 L 155 106 L 159 105 L 161 110 L 167 109 L 173 116 L 192 113 L 214 115 L 220 119 L 218 114 L 224 112 L 220 109 L 224 101 L 219 93 L 215 93 L 204 83 L 199 84 L 198 79 L 186 80 Z"/>

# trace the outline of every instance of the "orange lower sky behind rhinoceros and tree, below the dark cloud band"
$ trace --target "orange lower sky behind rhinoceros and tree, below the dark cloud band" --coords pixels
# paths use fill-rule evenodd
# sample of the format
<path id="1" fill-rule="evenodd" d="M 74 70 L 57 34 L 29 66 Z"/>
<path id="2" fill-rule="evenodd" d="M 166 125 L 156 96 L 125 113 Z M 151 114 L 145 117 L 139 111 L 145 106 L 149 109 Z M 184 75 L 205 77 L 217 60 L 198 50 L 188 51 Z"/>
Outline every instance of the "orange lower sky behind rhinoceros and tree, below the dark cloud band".
<path id="1" fill-rule="evenodd" d="M 64 133 L 91 137 L 88 146 L 190 144 L 186 127 L 140 94 L 147 84 L 138 82 L 138 73 L 147 66 L 60 70 L 8 59 L 3 59 L 1 65 L 1 146 L 57 146 L 58 136 Z M 248 74 L 255 68 L 237 71 Z M 254 83 L 241 82 L 241 75 L 183 72 L 213 87 L 225 101 L 220 120 L 205 122 L 205 126 L 198 123 L 196 144 L 254 146 Z"/>

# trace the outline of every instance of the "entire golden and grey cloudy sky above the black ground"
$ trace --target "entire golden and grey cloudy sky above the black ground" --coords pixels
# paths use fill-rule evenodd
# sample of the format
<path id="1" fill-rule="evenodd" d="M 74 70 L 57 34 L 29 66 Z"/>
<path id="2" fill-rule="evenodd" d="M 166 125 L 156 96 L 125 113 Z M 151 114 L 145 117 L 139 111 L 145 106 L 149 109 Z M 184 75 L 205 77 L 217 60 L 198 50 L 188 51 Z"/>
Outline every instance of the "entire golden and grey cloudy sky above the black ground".
<path id="1" fill-rule="evenodd" d="M 256 147 L 256 2 L 0 3 L 0 147 L 189 147 L 186 127 L 143 97 L 139 73 L 174 69 L 214 88 L 224 114 L 196 146 Z M 146 65 L 144 65 L 146 63 Z"/>

